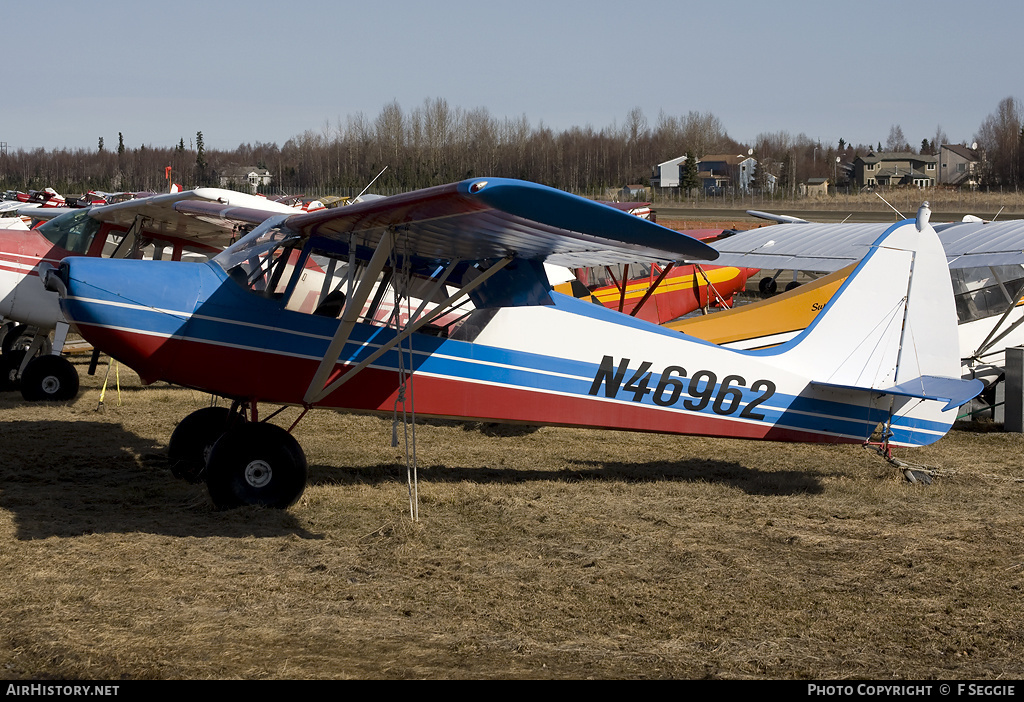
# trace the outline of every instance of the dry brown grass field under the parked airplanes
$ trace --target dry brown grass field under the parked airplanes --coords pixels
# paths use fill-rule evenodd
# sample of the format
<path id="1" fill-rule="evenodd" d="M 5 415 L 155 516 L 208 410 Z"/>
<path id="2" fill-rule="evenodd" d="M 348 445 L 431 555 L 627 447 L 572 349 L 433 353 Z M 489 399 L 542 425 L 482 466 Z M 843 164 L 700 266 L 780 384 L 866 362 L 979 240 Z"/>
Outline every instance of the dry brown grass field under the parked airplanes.
<path id="1" fill-rule="evenodd" d="M 1020 435 L 856 446 L 312 413 L 288 512 L 163 457 L 208 401 L 0 396 L 0 676 L 1020 678 Z M 284 424 L 294 410 L 281 418 Z"/>

